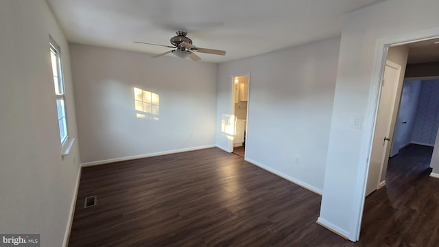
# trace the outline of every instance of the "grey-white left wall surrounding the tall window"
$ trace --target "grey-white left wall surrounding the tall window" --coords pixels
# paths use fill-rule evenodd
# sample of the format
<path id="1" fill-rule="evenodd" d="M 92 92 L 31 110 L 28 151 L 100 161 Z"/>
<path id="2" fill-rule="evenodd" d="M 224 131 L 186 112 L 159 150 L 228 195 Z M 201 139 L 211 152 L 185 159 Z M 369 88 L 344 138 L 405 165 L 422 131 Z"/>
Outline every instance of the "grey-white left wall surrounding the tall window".
<path id="1" fill-rule="evenodd" d="M 61 159 L 49 34 L 60 45 L 69 134 L 77 136 L 69 47 L 43 0 L 0 1 L 0 233 L 62 246 L 79 172 Z"/>

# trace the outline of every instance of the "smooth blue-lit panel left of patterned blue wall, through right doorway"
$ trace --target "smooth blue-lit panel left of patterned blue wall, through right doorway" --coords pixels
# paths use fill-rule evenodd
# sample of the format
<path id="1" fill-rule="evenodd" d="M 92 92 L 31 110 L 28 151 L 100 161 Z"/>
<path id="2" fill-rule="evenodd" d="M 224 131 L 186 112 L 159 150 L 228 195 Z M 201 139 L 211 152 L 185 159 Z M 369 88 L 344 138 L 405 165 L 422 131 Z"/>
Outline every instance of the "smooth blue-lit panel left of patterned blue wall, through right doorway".
<path id="1" fill-rule="evenodd" d="M 404 82 L 401 105 L 399 106 L 398 119 L 396 120 L 396 129 L 393 137 L 392 154 L 390 154 L 390 156 L 398 154 L 401 148 L 412 143 L 412 134 L 421 86 L 422 81 L 420 80 L 408 80 Z M 403 124 L 403 122 L 405 122 L 405 124 Z"/>

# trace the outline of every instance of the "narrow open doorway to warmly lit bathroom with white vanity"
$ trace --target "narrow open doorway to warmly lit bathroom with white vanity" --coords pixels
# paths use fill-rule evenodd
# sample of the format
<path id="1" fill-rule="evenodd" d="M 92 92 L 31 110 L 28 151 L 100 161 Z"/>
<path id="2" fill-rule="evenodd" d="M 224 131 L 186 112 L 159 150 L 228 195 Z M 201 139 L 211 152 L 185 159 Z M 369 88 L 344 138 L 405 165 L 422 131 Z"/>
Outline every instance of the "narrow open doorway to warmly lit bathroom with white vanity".
<path id="1" fill-rule="evenodd" d="M 248 89 L 250 74 L 232 77 L 232 115 L 234 116 L 234 135 L 232 152 L 242 158 L 246 156 L 246 139 L 248 126 Z"/>

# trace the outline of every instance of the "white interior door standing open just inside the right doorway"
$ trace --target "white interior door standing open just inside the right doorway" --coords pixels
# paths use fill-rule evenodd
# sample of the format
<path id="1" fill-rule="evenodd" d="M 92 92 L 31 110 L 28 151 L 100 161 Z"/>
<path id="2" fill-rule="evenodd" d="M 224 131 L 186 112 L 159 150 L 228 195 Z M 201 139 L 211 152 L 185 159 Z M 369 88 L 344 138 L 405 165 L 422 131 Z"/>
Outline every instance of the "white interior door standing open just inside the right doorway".
<path id="1" fill-rule="evenodd" d="M 387 60 L 385 62 L 384 79 L 379 98 L 377 124 L 370 155 L 368 183 L 366 196 L 379 187 L 383 167 L 387 167 L 390 148 L 392 146 L 392 117 L 396 104 L 396 91 L 398 88 L 401 66 Z"/>

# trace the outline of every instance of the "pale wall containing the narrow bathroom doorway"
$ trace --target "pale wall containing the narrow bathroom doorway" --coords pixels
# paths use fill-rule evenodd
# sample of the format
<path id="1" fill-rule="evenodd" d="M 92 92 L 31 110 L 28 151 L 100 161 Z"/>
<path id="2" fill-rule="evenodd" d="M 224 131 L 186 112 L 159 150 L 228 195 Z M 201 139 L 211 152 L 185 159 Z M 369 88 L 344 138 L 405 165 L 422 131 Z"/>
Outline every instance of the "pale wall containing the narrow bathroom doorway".
<path id="1" fill-rule="evenodd" d="M 217 145 L 232 110 L 231 75 L 250 73 L 246 159 L 320 193 L 340 38 L 219 64 Z M 298 163 L 296 163 L 298 157 Z"/>

